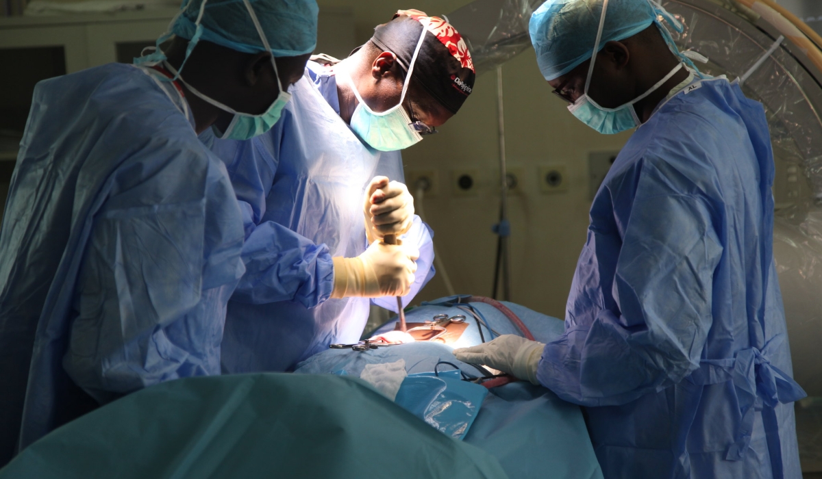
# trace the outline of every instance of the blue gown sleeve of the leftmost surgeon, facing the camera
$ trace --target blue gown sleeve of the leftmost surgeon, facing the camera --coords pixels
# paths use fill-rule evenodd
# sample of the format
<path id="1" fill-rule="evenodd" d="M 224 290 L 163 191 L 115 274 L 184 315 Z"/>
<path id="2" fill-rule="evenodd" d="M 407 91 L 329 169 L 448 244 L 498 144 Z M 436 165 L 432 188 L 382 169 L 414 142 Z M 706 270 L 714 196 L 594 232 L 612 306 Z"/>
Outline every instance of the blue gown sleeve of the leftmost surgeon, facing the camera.
<path id="1" fill-rule="evenodd" d="M 219 374 L 225 305 L 244 269 L 240 211 L 222 164 L 210 161 L 207 177 L 185 177 L 185 162 L 172 159 L 95 215 L 63 367 L 99 403 Z M 169 186 L 169 177 L 184 180 Z M 169 201 L 197 183 L 205 201 Z"/>

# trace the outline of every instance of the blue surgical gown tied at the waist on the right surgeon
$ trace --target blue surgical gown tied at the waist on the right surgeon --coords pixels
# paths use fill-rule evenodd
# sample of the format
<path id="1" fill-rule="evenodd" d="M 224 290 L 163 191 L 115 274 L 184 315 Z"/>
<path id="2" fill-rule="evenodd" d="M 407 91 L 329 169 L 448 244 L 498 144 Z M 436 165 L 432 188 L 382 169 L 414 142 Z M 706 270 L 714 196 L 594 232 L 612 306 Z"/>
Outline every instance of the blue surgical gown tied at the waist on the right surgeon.
<path id="1" fill-rule="evenodd" d="M 617 157 L 538 379 L 586 406 L 606 478 L 800 479 L 774 159 L 723 78 L 663 104 Z"/>

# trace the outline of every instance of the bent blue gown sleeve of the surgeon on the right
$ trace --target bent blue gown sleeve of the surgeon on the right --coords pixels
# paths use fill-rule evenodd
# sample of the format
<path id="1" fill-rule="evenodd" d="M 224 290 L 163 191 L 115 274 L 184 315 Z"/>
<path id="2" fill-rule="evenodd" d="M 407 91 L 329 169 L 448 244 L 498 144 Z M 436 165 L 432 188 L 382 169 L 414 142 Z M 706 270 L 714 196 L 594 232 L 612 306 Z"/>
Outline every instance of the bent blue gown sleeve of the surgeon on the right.
<path id="1" fill-rule="evenodd" d="M 712 324 L 713 272 L 723 253 L 719 213 L 662 161 L 645 162 L 627 212 L 618 249 L 607 246 L 614 233 L 592 224 L 575 278 L 575 291 L 595 289 L 609 283 L 600 274 L 612 274 L 611 291 L 602 293 L 615 305 L 591 299 L 593 322 L 547 343 L 539 363 L 538 380 L 572 403 L 620 405 L 677 384 L 699 367 Z M 614 254 L 609 273 L 602 265 Z M 580 269 L 594 271 L 586 281 L 598 284 L 578 284 Z"/>

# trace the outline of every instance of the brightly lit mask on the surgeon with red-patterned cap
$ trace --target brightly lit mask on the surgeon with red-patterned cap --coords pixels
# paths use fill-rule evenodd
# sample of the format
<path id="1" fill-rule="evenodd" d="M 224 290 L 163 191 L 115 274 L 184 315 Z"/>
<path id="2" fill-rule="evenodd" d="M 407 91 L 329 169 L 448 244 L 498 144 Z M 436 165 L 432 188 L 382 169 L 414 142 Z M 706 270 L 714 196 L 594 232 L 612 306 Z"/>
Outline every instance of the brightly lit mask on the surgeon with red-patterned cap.
<path id="1" fill-rule="evenodd" d="M 360 96 L 357 91 L 357 85 L 354 85 L 348 72 L 340 71 L 349 81 L 354 96 L 357 97 L 357 101 L 359 102 L 351 116 L 351 129 L 360 140 L 371 145 L 374 150 L 404 150 L 423 140 L 423 136 L 420 136 L 411 126 L 411 118 L 403 108 L 403 101 L 405 99 L 405 92 L 408 91 L 409 82 L 411 81 L 414 63 L 417 62 L 419 48 L 423 45 L 423 39 L 425 39 L 425 32 L 426 29 L 423 28 L 423 33 L 419 36 L 417 48 L 414 50 L 413 58 L 411 58 L 408 75 L 405 76 L 403 92 L 399 96 L 399 104 L 387 109 L 385 112 L 377 113 L 371 108 L 368 108 L 368 105 L 363 101 L 363 97 Z"/>

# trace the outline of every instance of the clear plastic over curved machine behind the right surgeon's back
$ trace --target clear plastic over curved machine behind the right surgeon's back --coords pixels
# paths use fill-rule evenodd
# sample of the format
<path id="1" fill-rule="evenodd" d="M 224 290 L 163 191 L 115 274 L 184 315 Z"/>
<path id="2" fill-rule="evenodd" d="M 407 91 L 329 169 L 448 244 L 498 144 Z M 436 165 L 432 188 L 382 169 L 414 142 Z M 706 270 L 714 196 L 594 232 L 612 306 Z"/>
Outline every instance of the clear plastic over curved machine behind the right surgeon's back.
<path id="1" fill-rule="evenodd" d="M 710 59 L 710 75 L 743 76 L 780 32 L 731 0 L 669 0 L 663 6 L 686 25 L 681 49 Z M 776 159 L 774 257 L 783 291 L 794 375 L 822 396 L 822 88 L 803 65 L 804 52 L 786 39 L 742 90 L 764 104 Z M 816 73 L 819 75 L 819 72 Z"/>

